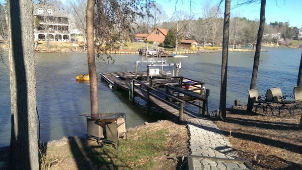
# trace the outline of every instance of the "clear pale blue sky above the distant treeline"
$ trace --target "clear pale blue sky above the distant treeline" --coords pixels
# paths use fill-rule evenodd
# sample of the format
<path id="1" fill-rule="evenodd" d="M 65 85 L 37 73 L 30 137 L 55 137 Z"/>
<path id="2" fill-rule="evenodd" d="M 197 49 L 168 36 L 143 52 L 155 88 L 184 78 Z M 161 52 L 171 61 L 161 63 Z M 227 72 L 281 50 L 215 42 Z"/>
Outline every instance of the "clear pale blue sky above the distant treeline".
<path id="1" fill-rule="evenodd" d="M 175 12 L 175 4 L 177 2 L 177 11 L 192 11 L 196 14 L 196 18 L 201 17 L 202 3 L 210 1 L 212 5 L 218 4 L 218 0 L 191 0 L 193 5 L 190 7 L 189 0 L 156 0 L 157 3 L 163 6 L 169 18 Z M 260 3 L 233 8 L 242 0 L 232 0 L 231 15 L 241 14 L 240 17 L 246 17 L 250 20 L 260 19 Z M 224 11 L 224 3 L 221 4 Z M 191 9 L 191 10 L 190 10 Z M 198 15 L 199 14 L 199 15 Z M 265 10 L 266 23 L 270 22 L 288 22 L 290 26 L 302 28 L 302 0 L 267 0 Z"/>

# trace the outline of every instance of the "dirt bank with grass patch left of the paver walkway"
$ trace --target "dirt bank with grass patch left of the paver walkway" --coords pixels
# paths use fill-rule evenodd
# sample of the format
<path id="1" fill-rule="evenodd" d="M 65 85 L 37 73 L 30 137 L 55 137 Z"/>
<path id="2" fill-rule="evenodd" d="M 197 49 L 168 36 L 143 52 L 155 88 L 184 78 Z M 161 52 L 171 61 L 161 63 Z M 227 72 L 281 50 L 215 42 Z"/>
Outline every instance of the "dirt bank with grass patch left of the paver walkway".
<path id="1" fill-rule="evenodd" d="M 6 169 L 9 148 L 0 148 L 0 169 Z M 128 129 L 128 140 L 98 145 L 77 136 L 41 146 L 41 169 L 182 169 L 188 155 L 186 125 L 161 120 Z"/>

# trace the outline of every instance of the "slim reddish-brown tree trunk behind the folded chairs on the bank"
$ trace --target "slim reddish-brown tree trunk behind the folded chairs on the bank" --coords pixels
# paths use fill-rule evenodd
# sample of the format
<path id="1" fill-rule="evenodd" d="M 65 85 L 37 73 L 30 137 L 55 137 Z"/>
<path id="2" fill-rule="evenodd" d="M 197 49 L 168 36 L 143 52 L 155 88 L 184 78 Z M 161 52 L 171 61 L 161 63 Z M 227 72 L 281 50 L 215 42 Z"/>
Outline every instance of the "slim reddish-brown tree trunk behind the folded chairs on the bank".
<path id="1" fill-rule="evenodd" d="M 96 71 L 96 60 L 95 60 L 95 49 L 94 49 L 94 0 L 88 0 L 87 2 L 87 55 L 88 55 L 88 71 L 89 71 L 89 82 L 90 82 L 90 106 L 91 115 L 99 113 L 98 107 L 98 86 L 97 86 L 97 71 Z"/>

